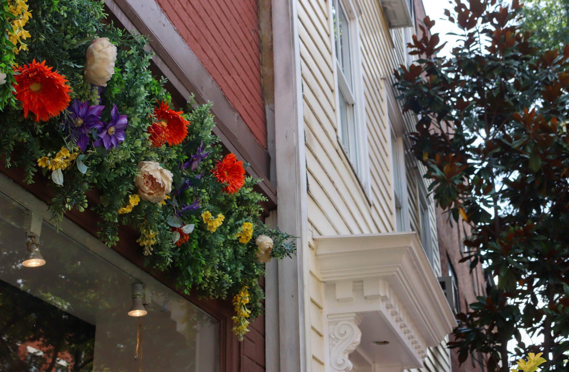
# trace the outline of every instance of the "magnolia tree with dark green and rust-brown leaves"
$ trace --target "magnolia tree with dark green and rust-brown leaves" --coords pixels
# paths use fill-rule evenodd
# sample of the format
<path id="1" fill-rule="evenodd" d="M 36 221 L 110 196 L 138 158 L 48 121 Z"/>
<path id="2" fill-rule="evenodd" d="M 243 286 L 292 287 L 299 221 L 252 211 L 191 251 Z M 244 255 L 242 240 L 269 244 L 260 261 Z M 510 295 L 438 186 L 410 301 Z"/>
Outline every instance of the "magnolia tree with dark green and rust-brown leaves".
<path id="1" fill-rule="evenodd" d="M 428 17 L 413 37 L 415 64 L 395 72 L 430 191 L 449 222 L 472 227 L 463 262 L 489 281 L 454 331 L 459 359 L 482 355 L 489 372 L 527 353 L 567 371 L 569 349 L 569 45 L 538 50 L 517 0 L 455 0 L 462 30 L 449 57 Z M 529 337 L 528 337 L 529 336 Z M 479 353 L 480 352 L 480 353 Z M 533 355 L 533 354 L 532 354 Z"/>

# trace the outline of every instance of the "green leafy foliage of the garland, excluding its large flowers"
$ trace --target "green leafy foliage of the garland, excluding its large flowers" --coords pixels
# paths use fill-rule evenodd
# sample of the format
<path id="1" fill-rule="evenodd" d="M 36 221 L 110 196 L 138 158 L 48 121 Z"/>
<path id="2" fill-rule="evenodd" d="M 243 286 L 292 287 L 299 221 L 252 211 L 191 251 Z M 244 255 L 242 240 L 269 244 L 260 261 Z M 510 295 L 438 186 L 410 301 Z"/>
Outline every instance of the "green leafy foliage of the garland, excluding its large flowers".
<path id="1" fill-rule="evenodd" d="M 7 28 L 13 19 L 7 14 L 10 6 L 25 5 L 26 1 L 0 1 L 6 18 L 2 27 Z M 270 236 L 274 240 L 271 257 L 281 259 L 294 253 L 294 237 L 259 221 L 259 202 L 266 200 L 253 191 L 259 179 L 245 178 L 236 193 L 222 190 L 226 185 L 212 173 L 222 159 L 222 149 L 212 134 L 215 123 L 211 105 L 195 105 L 191 99 L 182 114 L 191 123 L 183 143 L 152 147 L 148 131 L 156 123 L 155 108 L 158 102 L 170 102 L 171 97 L 163 88 L 164 81 L 156 81 L 150 73 L 151 53 L 144 49 L 145 38 L 105 24 L 102 1 L 38 0 L 28 6 L 27 48 L 16 54 L 17 45 L 9 41 L 9 35 L 0 38 L 0 48 L 5 52 L 0 68 L 7 76 L 7 82 L 0 85 L 0 154 L 6 166 L 24 169 L 28 183 L 34 182 L 32 177 L 40 169 L 45 177 L 52 178 L 55 197 L 51 210 L 57 222 L 72 208 L 84 211 L 88 207 L 85 192 L 95 187 L 100 203 L 91 208 L 101 216 L 98 236 L 107 245 L 117 243 L 120 225 L 135 227 L 141 233 L 138 241 L 141 249 L 145 248 L 146 264 L 168 270 L 185 293 L 193 290 L 207 298 L 238 295 L 241 305 L 241 299 L 250 296 L 250 316 L 261 314 L 259 278 L 264 274 L 264 264 L 257 258 L 255 239 Z M 85 52 L 95 37 L 108 37 L 117 46 L 114 74 L 104 90 L 84 79 Z M 25 119 L 21 102 L 14 99 L 11 68 L 32 60 L 45 60 L 46 66 L 68 80 L 72 101 L 104 105 L 101 121 L 111 120 L 111 108 L 116 105 L 119 114 L 127 118 L 125 140 L 117 148 L 93 147 L 98 139 L 93 131 L 88 147 L 80 151 L 76 139 L 62 125 L 68 111 L 46 121 L 34 122 L 34 115 Z M 62 155 L 65 149 L 70 153 L 67 158 Z M 207 156 L 191 168 L 180 169 L 192 154 L 199 153 Z M 45 161 L 56 157 L 67 159 L 65 167 L 48 172 Z M 174 189 L 170 198 L 162 203 L 138 198 L 134 181 L 140 175 L 141 161 L 157 162 L 171 170 Z M 207 223 L 209 214 L 213 224 Z M 215 220 L 220 214 L 223 219 Z M 246 311 L 240 314 L 249 316 Z M 244 319 L 236 319 L 236 324 L 235 332 L 242 339 Z"/>

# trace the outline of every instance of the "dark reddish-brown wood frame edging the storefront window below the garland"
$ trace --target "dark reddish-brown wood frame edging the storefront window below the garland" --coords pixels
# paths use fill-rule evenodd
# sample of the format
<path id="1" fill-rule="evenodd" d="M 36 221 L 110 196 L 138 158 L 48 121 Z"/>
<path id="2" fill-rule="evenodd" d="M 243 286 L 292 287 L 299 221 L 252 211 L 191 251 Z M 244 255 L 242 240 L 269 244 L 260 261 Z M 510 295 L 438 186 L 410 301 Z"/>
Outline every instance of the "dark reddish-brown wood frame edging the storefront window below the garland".
<path id="1" fill-rule="evenodd" d="M 6 168 L 2 162 L 0 164 L 0 172 L 6 174 L 13 179 L 18 185 L 30 191 L 35 197 L 43 200 L 46 203 L 51 203 L 53 198 L 53 190 L 51 189 L 50 182 L 44 178 L 42 174 L 34 176 L 34 182 L 30 185 L 24 183 L 24 171 L 20 168 Z M 87 202 L 90 206 L 100 202 L 97 190 L 89 190 L 87 195 Z M 97 223 L 102 221 L 96 212 L 85 209 L 84 212 L 79 212 L 75 208 L 67 213 L 65 217 L 73 221 L 85 231 L 97 236 L 98 227 Z M 241 355 L 241 342 L 233 335 L 231 329 L 233 328 L 233 321 L 231 317 L 234 315 L 233 305 L 230 299 L 200 299 L 196 294 L 190 293 L 189 295 L 183 294 L 176 289 L 174 283 L 168 279 L 168 273 L 163 271 L 153 270 L 150 267 L 143 265 L 143 256 L 140 254 L 141 247 L 136 243 L 138 239 L 138 231 L 133 228 L 121 226 L 118 230 L 119 241 L 117 245 L 110 249 L 116 250 L 122 257 L 129 260 L 134 265 L 137 265 L 142 270 L 146 271 L 159 282 L 163 283 L 176 293 L 186 298 L 189 302 L 195 304 L 201 310 L 207 312 L 209 315 L 215 317 L 220 322 L 220 372 L 238 372 L 240 366 Z"/>

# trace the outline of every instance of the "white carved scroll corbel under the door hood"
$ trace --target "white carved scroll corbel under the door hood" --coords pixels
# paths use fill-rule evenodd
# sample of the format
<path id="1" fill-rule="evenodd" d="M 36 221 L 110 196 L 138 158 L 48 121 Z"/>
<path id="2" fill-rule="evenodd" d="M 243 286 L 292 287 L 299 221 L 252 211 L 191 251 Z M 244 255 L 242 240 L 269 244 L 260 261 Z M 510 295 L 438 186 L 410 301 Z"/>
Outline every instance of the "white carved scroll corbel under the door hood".
<path id="1" fill-rule="evenodd" d="M 353 370 L 348 356 L 360 345 L 361 331 L 358 328 L 360 323 L 361 316 L 356 313 L 328 315 L 332 371 L 351 372 Z"/>

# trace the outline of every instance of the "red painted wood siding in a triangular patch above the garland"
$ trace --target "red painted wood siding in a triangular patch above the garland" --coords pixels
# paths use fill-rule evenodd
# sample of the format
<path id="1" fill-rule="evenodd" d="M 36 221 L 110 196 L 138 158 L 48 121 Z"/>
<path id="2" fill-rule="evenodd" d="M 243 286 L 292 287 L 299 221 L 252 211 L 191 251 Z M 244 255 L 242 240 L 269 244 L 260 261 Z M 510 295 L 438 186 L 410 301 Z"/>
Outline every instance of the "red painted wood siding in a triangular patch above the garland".
<path id="1" fill-rule="evenodd" d="M 220 86 L 255 139 L 267 148 L 257 0 L 156 2 Z"/>

